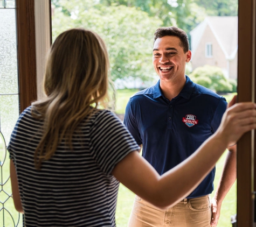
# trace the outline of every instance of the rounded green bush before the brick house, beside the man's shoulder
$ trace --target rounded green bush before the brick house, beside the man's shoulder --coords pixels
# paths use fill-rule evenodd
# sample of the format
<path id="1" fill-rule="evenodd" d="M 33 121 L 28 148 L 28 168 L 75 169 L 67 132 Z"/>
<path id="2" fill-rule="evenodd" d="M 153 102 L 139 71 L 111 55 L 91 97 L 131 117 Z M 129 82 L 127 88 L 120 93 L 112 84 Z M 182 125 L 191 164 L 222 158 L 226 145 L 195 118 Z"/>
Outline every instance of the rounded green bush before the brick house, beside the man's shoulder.
<path id="1" fill-rule="evenodd" d="M 191 74 L 191 80 L 206 88 L 218 92 L 236 92 L 236 81 L 226 79 L 222 69 L 216 66 L 205 65 L 198 67 Z"/>

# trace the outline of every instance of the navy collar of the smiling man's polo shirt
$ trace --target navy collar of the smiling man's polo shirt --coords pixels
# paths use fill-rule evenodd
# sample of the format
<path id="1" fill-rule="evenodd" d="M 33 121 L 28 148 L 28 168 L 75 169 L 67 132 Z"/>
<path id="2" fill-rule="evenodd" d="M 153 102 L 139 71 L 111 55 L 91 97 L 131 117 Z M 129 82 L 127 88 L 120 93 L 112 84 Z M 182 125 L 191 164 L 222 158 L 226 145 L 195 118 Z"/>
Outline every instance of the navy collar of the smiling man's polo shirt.
<path id="1" fill-rule="evenodd" d="M 184 88 L 181 90 L 181 92 L 178 94 L 178 96 L 181 96 L 185 98 L 186 100 L 189 100 L 193 89 L 195 88 L 195 83 L 189 79 L 189 77 L 186 75 L 186 83 Z M 154 98 L 158 98 L 160 96 L 163 96 L 162 91 L 160 89 L 160 80 L 157 81 L 157 83 L 154 86 Z"/>

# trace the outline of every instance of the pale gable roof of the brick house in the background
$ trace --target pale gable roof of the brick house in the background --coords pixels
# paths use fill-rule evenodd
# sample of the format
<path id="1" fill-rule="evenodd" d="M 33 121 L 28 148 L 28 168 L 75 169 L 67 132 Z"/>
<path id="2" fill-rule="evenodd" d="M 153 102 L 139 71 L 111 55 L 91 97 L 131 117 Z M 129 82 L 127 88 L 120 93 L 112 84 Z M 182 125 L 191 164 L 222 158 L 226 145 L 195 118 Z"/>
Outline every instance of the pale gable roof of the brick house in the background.
<path id="1" fill-rule="evenodd" d="M 238 17 L 237 16 L 209 16 L 190 32 L 191 51 L 195 52 L 206 26 L 209 26 L 226 59 L 234 59 L 238 47 Z"/>

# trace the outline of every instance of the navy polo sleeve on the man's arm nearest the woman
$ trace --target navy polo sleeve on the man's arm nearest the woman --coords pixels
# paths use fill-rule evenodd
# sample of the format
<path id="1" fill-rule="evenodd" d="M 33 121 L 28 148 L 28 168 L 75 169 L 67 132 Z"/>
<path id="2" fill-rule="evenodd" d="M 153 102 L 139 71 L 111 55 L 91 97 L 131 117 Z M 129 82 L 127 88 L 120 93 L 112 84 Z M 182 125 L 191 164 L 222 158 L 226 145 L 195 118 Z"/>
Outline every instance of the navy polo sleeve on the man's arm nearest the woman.
<path id="1" fill-rule="evenodd" d="M 136 121 L 134 110 L 135 110 L 135 107 L 132 102 L 132 98 L 130 98 L 126 105 L 126 111 L 124 113 L 123 124 L 127 127 L 129 132 L 132 134 L 132 136 L 134 137 L 137 144 L 141 145 L 142 139 L 141 139 L 141 134 L 140 134 L 140 130 L 139 130 L 139 125 Z"/>

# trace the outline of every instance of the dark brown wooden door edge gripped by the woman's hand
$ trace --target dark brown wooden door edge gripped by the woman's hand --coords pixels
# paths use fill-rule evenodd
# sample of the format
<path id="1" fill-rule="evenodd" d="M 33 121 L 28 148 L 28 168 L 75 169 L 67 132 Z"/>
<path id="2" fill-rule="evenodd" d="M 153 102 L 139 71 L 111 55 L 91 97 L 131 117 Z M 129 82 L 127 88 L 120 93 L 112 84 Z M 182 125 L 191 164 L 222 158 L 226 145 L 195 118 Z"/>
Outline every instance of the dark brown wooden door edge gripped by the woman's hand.
<path id="1" fill-rule="evenodd" d="M 255 15 L 256 0 L 238 4 L 238 102 L 255 102 Z M 255 136 L 247 132 L 238 142 L 237 226 L 256 226 L 254 222 Z"/>

